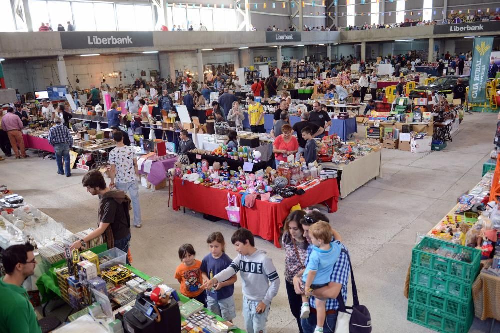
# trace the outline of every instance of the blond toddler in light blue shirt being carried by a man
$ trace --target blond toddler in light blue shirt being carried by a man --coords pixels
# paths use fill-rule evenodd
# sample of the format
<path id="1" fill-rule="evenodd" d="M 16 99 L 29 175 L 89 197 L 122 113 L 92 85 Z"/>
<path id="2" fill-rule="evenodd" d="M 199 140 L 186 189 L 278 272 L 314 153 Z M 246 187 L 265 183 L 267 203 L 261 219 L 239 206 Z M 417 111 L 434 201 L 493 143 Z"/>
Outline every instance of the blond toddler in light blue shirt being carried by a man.
<path id="1" fill-rule="evenodd" d="M 314 289 L 319 289 L 328 285 L 331 281 L 331 268 L 338 260 L 341 252 L 340 242 L 332 242 L 331 226 L 319 221 L 309 228 L 309 235 L 314 245 L 309 256 L 309 262 L 302 275 L 304 282 L 304 295 L 302 295 L 302 309 L 300 318 L 308 318 L 310 307 L 308 297 Z M 317 324 L 314 333 L 322 333 L 326 319 L 326 300 L 316 297 Z"/>

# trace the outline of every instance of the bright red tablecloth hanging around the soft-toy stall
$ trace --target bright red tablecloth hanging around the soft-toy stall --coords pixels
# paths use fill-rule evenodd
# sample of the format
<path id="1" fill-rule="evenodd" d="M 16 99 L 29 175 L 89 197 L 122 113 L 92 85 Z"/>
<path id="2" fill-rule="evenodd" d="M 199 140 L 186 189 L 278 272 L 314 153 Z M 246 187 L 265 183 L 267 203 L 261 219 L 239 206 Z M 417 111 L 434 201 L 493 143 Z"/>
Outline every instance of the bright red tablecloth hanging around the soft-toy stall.
<path id="1" fill-rule="evenodd" d="M 187 207 L 192 210 L 227 219 L 227 190 L 214 189 L 203 185 L 196 185 L 180 178 L 173 180 L 173 209 Z M 231 192 L 233 193 L 233 192 Z M 290 213 L 291 207 L 300 203 L 307 207 L 325 203 L 330 212 L 336 212 L 338 202 L 338 185 L 336 179 L 327 179 L 308 189 L 303 195 L 294 195 L 283 201 L 269 202 L 255 200 L 252 208 L 241 206 L 241 194 L 234 193 L 238 207 L 240 207 L 241 226 L 250 230 L 254 235 L 279 245 L 279 236 L 283 221 Z M 209 198 L 209 200 L 208 200 Z"/>

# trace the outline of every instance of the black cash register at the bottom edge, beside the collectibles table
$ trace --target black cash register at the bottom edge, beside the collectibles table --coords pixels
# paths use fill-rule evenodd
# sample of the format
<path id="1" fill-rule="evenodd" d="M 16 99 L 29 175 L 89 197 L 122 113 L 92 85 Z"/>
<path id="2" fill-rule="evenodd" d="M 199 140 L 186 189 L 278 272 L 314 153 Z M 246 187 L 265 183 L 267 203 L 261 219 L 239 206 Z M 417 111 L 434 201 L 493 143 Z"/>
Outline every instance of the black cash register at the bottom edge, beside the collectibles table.
<path id="1" fill-rule="evenodd" d="M 134 307 L 123 316 L 125 332 L 129 333 L 179 333 L 181 330 L 180 309 L 173 298 L 166 305 L 155 305 L 141 292 Z"/>

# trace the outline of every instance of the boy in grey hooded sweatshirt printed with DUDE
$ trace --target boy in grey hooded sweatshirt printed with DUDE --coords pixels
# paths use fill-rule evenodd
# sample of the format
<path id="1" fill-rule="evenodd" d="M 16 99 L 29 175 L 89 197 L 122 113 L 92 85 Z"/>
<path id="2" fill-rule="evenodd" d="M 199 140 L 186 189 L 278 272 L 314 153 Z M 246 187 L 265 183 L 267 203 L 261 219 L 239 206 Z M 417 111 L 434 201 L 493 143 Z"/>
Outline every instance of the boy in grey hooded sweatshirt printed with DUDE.
<path id="1" fill-rule="evenodd" d="M 278 293 L 279 276 L 272 259 L 263 250 L 255 248 L 251 231 L 240 228 L 231 238 L 238 256 L 228 268 L 208 280 L 203 287 L 210 289 L 217 283 L 241 274 L 243 284 L 243 317 L 248 333 L 265 333 L 271 301 Z"/>

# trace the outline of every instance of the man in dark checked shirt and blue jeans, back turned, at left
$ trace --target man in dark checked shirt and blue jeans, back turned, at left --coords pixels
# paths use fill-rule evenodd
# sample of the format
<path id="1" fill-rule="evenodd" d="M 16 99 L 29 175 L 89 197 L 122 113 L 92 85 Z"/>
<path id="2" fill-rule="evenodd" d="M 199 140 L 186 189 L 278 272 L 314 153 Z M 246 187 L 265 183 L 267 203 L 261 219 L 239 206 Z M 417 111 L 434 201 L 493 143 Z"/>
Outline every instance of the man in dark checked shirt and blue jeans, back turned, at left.
<path id="1" fill-rule="evenodd" d="M 71 163 L 69 161 L 69 149 L 73 146 L 73 137 L 66 126 L 62 125 L 62 119 L 54 118 L 55 126 L 50 128 L 48 132 L 48 142 L 54 146 L 55 161 L 57 162 L 57 173 L 64 174 L 62 169 L 62 159 L 66 167 L 66 177 L 71 176 Z"/>

